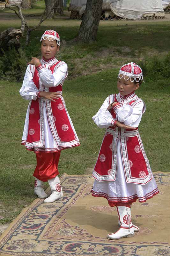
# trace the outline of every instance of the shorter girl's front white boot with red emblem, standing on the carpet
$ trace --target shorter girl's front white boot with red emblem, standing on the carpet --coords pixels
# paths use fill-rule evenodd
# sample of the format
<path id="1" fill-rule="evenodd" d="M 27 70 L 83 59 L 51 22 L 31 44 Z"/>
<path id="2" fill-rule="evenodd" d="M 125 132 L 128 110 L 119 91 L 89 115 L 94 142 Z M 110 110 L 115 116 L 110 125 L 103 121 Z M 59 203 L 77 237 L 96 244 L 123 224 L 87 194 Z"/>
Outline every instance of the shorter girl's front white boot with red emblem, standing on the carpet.
<path id="1" fill-rule="evenodd" d="M 112 234 L 108 234 L 108 239 L 121 239 L 123 237 L 134 236 L 134 229 L 131 222 L 130 208 L 126 206 L 116 206 L 119 220 L 121 223 L 120 229 Z"/>

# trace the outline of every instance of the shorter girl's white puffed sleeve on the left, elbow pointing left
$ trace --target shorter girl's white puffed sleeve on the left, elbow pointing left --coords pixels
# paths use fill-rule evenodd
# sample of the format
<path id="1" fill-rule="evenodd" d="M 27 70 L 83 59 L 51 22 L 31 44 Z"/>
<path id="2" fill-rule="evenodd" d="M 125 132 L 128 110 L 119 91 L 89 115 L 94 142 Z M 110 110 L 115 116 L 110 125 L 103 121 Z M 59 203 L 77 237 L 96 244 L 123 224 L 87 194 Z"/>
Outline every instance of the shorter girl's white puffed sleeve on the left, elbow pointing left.
<path id="1" fill-rule="evenodd" d="M 109 97 L 104 101 L 103 105 L 99 109 L 99 111 L 96 113 L 95 116 L 92 117 L 92 120 L 99 128 L 107 128 L 109 126 L 115 126 L 115 121 L 110 114 L 110 112 L 107 110 L 109 106 Z"/>

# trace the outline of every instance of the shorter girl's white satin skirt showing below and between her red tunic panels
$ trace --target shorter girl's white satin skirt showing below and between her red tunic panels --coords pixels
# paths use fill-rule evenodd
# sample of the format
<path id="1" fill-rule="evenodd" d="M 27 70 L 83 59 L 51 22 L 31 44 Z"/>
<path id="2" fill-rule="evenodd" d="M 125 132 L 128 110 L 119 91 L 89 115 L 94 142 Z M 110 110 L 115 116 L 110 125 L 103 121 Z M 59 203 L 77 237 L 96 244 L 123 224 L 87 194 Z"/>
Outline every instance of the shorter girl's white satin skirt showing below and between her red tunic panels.
<path id="1" fill-rule="evenodd" d="M 105 197 L 109 205 L 112 203 L 126 203 L 145 202 L 147 199 L 152 198 L 159 193 L 154 178 L 145 185 L 127 183 L 120 149 L 120 142 L 117 141 L 117 173 L 115 181 L 102 181 L 94 180 L 92 188 L 92 196 Z"/>

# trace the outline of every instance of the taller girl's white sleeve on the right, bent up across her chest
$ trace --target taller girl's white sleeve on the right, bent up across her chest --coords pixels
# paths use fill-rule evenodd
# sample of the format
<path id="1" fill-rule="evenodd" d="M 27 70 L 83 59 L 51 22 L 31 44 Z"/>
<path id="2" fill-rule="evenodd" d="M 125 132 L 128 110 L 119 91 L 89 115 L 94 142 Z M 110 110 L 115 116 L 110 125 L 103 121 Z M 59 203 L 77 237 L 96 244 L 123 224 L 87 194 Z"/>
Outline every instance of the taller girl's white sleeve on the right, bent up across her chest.
<path id="1" fill-rule="evenodd" d="M 37 71 L 40 74 L 42 84 L 47 87 L 55 87 L 61 84 L 61 82 L 68 76 L 68 67 L 63 61 L 53 74 L 50 69 L 45 69 L 42 66 L 39 66 Z"/>

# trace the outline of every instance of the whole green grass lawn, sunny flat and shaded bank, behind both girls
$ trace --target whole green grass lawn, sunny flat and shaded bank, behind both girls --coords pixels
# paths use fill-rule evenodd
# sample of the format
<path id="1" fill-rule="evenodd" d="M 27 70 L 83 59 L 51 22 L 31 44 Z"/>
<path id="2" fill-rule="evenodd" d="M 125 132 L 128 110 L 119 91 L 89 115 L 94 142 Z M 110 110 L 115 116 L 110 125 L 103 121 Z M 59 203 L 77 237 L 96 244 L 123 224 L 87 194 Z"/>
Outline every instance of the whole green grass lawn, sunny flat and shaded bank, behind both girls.
<path id="1" fill-rule="evenodd" d="M 38 3 L 40 2 L 43 3 Z M 34 8 L 26 13 L 38 14 L 42 9 L 39 6 L 37 12 Z M 7 10 L 0 13 L 3 12 Z M 10 26 L 20 26 L 17 19 L 1 21 L 0 31 Z M 32 18 L 28 21 L 32 26 L 37 23 Z M 81 146 L 62 151 L 59 162 L 61 174 L 66 172 L 81 175 L 94 166 L 104 130 L 95 126 L 92 116 L 109 94 L 117 92 L 118 68 L 127 61 L 140 63 L 145 58 L 164 56 L 170 51 L 169 21 L 100 22 L 98 41 L 88 45 L 70 41 L 77 35 L 79 25 L 80 21 L 76 20 L 47 20 L 39 29 L 33 31 L 28 47 L 25 46 L 25 39 L 22 39 L 28 60 L 31 56 L 40 56 L 39 40 L 44 30 L 55 29 L 66 41 L 58 56 L 69 67 L 69 78 L 63 86 L 63 97 Z M 170 78 L 145 77 L 145 81 L 137 91 L 137 95 L 147 106 L 139 127 L 141 137 L 152 171 L 168 172 Z M 0 223 L 11 222 L 23 207 L 36 198 L 33 195 L 32 176 L 36 165 L 35 154 L 20 145 L 28 106 L 28 102 L 19 95 L 20 87 L 21 83 L 15 83 L 8 78 L 0 81 Z"/>

